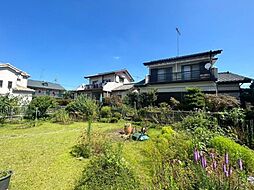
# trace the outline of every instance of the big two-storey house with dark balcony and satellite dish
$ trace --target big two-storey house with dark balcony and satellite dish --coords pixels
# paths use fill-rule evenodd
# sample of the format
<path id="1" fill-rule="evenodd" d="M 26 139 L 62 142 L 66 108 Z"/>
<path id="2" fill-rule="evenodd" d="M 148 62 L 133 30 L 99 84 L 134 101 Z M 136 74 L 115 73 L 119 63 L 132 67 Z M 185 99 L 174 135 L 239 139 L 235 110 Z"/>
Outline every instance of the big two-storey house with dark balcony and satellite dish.
<path id="1" fill-rule="evenodd" d="M 218 73 L 214 64 L 222 50 L 145 62 L 149 75 L 135 84 L 140 92 L 157 89 L 158 101 L 170 97 L 182 100 L 188 87 L 200 88 L 205 93 L 227 93 L 239 97 L 240 83 L 252 79 L 233 73 Z"/>

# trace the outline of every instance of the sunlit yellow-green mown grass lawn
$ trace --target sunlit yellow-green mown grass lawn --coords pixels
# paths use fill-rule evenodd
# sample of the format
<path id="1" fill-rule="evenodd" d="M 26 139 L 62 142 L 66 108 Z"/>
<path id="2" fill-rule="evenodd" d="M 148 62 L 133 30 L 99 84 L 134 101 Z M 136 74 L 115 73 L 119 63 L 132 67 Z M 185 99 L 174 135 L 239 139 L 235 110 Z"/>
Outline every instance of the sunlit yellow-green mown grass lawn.
<path id="1" fill-rule="evenodd" d="M 59 125 L 44 122 L 33 128 L 18 125 L 0 127 L 0 169 L 12 169 L 12 190 L 73 189 L 88 160 L 70 155 L 86 123 Z M 110 133 L 122 129 L 123 123 L 94 123 L 93 130 Z M 157 131 L 151 131 L 156 135 Z M 147 142 L 125 141 L 124 156 L 149 183 L 149 167 L 142 150 Z"/>

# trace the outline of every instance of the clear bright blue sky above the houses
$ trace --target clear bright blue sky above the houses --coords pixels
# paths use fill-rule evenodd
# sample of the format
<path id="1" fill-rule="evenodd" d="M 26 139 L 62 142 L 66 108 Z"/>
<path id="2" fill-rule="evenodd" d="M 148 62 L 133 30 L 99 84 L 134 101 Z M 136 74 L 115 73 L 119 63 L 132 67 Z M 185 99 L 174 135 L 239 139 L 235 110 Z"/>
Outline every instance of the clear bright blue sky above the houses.
<path id="1" fill-rule="evenodd" d="M 222 49 L 216 67 L 254 78 L 253 0 L 0 0 L 0 62 L 66 89 L 85 75 Z"/>

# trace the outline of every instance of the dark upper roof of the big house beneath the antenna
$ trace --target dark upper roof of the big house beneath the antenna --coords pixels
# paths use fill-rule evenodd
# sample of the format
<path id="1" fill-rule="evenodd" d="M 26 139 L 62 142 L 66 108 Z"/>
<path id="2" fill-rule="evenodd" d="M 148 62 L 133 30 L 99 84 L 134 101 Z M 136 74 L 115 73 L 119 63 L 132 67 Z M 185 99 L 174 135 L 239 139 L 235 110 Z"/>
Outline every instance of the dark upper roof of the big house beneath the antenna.
<path id="1" fill-rule="evenodd" d="M 144 65 L 148 66 L 148 65 L 154 65 L 157 63 L 168 63 L 168 62 L 172 62 L 172 61 L 180 61 L 180 60 L 184 60 L 184 59 L 197 58 L 197 57 L 203 57 L 203 56 L 211 56 L 211 58 L 213 58 L 215 55 L 220 54 L 221 52 L 222 52 L 222 50 L 206 51 L 206 52 L 202 52 L 202 53 L 195 53 L 195 54 L 190 54 L 190 55 L 183 55 L 183 56 L 171 57 L 171 58 L 166 58 L 166 59 L 159 59 L 159 60 L 155 60 L 155 61 L 149 61 L 149 62 L 145 62 Z"/>

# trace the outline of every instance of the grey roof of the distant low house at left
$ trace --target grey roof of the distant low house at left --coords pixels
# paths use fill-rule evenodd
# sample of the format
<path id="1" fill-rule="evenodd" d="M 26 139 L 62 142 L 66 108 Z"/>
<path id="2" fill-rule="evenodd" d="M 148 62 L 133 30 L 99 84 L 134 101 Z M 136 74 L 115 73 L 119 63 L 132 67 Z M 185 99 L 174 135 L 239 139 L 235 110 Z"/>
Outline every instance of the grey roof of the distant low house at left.
<path id="1" fill-rule="evenodd" d="M 52 89 L 52 90 L 65 90 L 60 84 L 39 80 L 28 80 L 27 86 L 29 88 L 44 88 L 44 89 Z"/>

